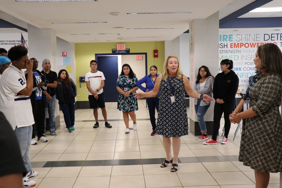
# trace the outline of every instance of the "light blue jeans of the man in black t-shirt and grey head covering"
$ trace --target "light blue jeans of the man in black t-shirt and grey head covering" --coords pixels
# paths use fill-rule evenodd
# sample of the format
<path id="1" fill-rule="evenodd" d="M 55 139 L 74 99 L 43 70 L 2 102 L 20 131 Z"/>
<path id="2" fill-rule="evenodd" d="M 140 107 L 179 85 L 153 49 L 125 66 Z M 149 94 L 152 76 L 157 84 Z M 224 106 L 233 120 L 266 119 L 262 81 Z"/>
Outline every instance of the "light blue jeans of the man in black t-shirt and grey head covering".
<path id="1" fill-rule="evenodd" d="M 47 107 L 45 109 L 45 121 L 44 121 L 44 129 L 46 130 L 46 116 L 47 110 L 49 114 L 49 128 L 50 131 L 54 131 L 55 127 L 55 110 L 56 110 L 56 95 L 52 96 L 52 101 L 48 101 L 46 97 Z"/>

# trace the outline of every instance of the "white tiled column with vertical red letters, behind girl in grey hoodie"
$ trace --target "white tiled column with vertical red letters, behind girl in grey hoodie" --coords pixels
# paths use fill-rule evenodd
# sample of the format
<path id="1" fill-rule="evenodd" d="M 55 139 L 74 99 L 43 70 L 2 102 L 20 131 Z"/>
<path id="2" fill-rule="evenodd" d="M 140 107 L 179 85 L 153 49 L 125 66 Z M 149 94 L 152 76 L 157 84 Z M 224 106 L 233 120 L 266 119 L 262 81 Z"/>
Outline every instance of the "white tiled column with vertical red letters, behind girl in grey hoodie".
<path id="1" fill-rule="evenodd" d="M 218 12 L 206 19 L 195 19 L 189 23 L 189 55 L 190 55 L 190 84 L 193 87 L 202 65 L 209 68 L 211 74 L 218 74 L 218 36 L 219 36 L 219 17 Z M 204 120 L 207 129 L 212 131 L 214 101 L 211 101 Z M 194 108 L 194 101 L 190 97 L 190 131 L 195 135 L 200 135 L 199 124 Z M 208 134 L 211 134 L 210 132 Z"/>

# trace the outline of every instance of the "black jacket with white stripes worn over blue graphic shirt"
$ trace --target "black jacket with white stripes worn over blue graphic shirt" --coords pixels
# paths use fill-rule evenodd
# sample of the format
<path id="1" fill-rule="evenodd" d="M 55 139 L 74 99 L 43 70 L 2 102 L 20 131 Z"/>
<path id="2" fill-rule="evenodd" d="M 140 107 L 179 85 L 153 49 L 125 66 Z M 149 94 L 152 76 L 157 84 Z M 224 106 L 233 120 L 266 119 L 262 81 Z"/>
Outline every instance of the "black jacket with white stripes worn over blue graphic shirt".
<path id="1" fill-rule="evenodd" d="M 47 89 L 47 84 L 46 84 L 45 77 L 43 76 L 43 74 L 39 70 L 36 70 L 36 72 L 39 74 L 41 80 L 45 82 L 45 84 L 43 85 L 43 87 L 41 87 L 41 89 L 42 89 L 43 105 L 44 105 L 44 108 L 46 108 L 47 107 L 46 95 L 43 93 L 43 91 Z M 32 87 L 32 93 L 30 95 L 30 102 L 31 102 L 32 108 L 37 108 L 37 105 L 36 105 L 37 103 L 35 101 L 36 101 L 36 90 L 38 89 L 37 87 L 38 84 L 36 83 L 36 78 L 34 75 L 32 76 L 32 78 L 33 78 L 33 87 Z M 27 79 L 27 71 L 25 71 L 25 79 Z"/>

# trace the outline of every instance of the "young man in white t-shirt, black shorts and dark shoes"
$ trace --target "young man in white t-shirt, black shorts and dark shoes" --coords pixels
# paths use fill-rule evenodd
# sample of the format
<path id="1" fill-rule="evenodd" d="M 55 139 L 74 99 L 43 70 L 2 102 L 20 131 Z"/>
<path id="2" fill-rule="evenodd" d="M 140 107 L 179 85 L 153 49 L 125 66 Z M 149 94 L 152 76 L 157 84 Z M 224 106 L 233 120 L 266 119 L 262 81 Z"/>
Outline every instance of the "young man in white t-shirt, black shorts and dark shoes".
<path id="1" fill-rule="evenodd" d="M 97 70 L 97 61 L 90 61 L 91 71 L 87 72 L 85 75 L 86 87 L 88 89 L 88 100 L 90 104 L 90 108 L 93 109 L 93 114 L 96 123 L 93 128 L 99 127 L 98 122 L 98 107 L 102 110 L 102 115 L 105 120 L 105 127 L 112 128 L 110 123 L 107 120 L 107 111 L 105 108 L 105 94 L 103 93 L 104 87 L 104 74 L 101 71 Z"/>

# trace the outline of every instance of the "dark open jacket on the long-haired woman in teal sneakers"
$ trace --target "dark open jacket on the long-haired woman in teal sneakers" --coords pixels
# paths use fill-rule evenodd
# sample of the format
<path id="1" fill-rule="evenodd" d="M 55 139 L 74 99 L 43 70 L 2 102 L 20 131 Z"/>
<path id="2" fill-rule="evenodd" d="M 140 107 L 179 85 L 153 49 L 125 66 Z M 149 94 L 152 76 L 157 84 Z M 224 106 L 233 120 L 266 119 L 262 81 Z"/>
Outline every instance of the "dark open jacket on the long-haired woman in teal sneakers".
<path id="1" fill-rule="evenodd" d="M 70 79 L 71 85 L 67 84 L 67 88 L 69 90 L 70 98 L 75 102 L 76 97 L 76 85 L 72 79 Z M 56 99 L 59 100 L 59 103 L 65 104 L 65 99 L 63 97 L 63 90 L 62 90 L 62 81 L 58 79 L 57 87 L 55 88 L 56 92 Z"/>

